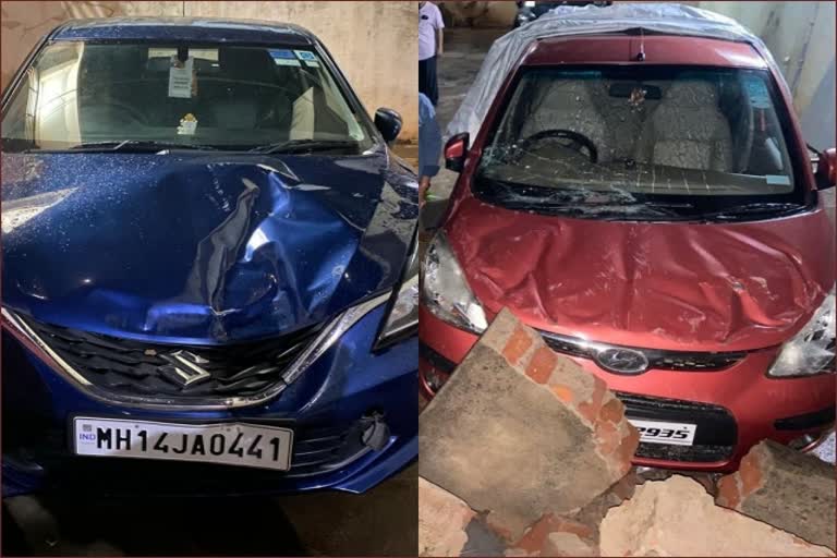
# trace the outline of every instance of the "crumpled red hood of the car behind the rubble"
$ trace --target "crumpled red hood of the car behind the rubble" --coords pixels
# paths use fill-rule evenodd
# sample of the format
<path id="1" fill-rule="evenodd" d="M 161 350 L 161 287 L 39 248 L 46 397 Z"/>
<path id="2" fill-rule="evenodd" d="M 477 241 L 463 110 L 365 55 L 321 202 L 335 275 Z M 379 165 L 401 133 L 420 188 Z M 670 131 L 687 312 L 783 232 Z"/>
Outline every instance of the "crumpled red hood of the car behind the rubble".
<path id="1" fill-rule="evenodd" d="M 652 223 L 512 211 L 466 195 L 446 230 L 477 299 L 594 341 L 738 351 L 796 332 L 834 286 L 824 210 L 740 223 Z"/>

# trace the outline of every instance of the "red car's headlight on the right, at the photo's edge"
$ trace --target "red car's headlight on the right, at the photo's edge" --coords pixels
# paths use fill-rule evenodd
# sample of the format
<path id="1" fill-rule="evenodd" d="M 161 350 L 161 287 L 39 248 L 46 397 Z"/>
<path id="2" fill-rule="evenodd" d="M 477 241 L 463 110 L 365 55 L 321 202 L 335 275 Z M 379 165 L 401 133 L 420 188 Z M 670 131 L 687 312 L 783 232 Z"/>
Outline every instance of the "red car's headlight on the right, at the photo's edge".
<path id="1" fill-rule="evenodd" d="M 835 290 L 823 301 L 802 330 L 786 342 L 767 371 L 777 378 L 834 373 Z"/>

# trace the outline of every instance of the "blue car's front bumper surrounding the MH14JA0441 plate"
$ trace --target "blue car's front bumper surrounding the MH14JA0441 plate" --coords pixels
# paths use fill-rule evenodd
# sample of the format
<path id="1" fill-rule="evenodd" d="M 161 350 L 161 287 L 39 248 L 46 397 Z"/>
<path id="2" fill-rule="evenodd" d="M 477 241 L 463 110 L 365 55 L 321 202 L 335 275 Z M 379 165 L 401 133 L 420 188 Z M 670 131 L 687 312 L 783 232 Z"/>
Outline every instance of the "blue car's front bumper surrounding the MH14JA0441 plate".
<path id="1" fill-rule="evenodd" d="M 114 404 L 81 390 L 8 330 L 2 333 L 3 496 L 34 490 L 120 495 L 362 493 L 417 456 L 417 337 L 373 344 L 386 304 L 345 331 L 279 396 L 226 410 L 158 410 Z M 169 422 L 242 422 L 294 429 L 291 470 L 74 456 L 72 416 Z M 387 436 L 373 448 L 372 427 Z M 380 432 L 380 430 L 379 430 Z"/>

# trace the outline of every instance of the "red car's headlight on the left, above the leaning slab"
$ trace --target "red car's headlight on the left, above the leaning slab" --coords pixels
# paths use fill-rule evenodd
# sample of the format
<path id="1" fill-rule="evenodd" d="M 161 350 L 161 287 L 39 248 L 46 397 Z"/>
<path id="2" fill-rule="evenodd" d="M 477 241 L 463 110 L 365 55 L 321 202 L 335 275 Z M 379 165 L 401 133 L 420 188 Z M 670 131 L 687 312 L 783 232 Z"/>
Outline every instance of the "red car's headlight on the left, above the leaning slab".
<path id="1" fill-rule="evenodd" d="M 461 329 L 482 333 L 488 327 L 442 232 L 436 234 L 424 258 L 422 300 L 436 317 Z"/>

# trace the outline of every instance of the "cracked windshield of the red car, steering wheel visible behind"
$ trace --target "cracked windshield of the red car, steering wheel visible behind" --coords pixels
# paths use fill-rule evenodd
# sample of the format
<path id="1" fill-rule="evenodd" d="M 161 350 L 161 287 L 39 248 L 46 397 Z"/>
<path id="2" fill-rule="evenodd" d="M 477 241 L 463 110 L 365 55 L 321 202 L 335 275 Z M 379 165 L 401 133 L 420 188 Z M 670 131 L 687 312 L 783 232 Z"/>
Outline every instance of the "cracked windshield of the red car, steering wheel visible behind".
<path id="1" fill-rule="evenodd" d="M 804 207 L 767 72 L 527 69 L 475 191 L 549 213 L 631 218 Z"/>

